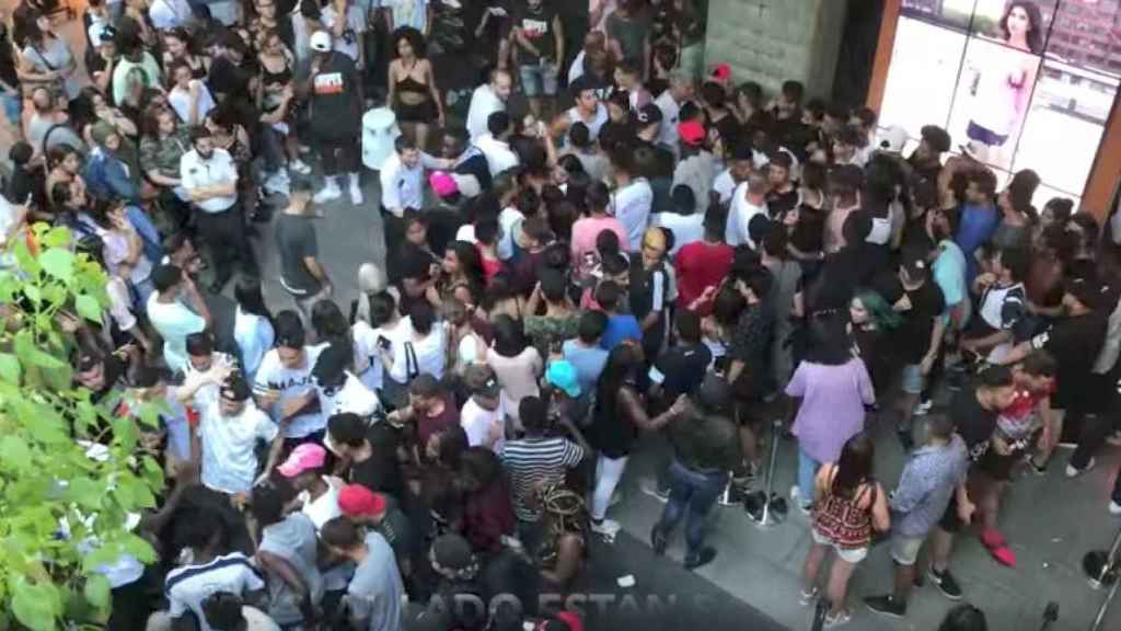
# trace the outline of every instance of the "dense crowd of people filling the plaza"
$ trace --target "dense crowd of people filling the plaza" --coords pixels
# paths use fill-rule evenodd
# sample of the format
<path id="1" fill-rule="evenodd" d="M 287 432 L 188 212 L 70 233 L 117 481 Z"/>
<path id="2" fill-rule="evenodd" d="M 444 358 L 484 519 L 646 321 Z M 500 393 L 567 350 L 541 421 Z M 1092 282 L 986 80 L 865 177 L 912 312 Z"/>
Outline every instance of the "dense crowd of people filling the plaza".
<path id="1" fill-rule="evenodd" d="M 649 542 L 680 528 L 695 569 L 717 497 L 780 440 L 803 602 L 847 622 L 883 540 L 891 588 L 864 604 L 901 618 L 924 577 L 965 595 L 955 536 L 1016 565 L 1013 476 L 1074 442 L 1075 478 L 1115 442 L 1101 209 L 1037 210 L 1035 172 L 1000 185 L 937 126 L 909 149 L 797 81 L 696 76 L 693 1 L 602 2 L 577 51 L 558 3 L 90 0 L 84 52 L 41 0 L 15 9 L 0 236 L 70 228 L 109 276 L 103 322 L 67 322 L 77 385 L 163 410 L 143 442 L 169 482 L 140 527 L 159 559 L 104 568 L 111 629 L 577 630 L 538 596 L 613 540 L 637 449 L 668 443 Z M 458 113 L 426 56 L 450 42 L 485 62 Z M 402 134 L 368 200 L 382 103 Z M 385 264 L 339 296 L 317 226 L 376 207 Z M 943 627 L 984 628 L 971 606 Z"/>

